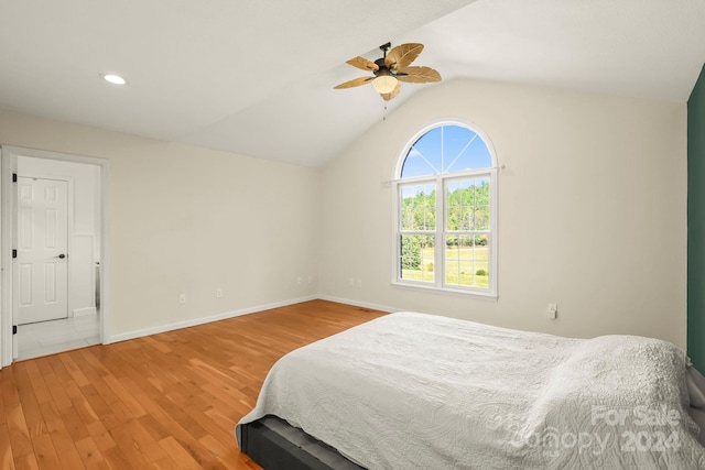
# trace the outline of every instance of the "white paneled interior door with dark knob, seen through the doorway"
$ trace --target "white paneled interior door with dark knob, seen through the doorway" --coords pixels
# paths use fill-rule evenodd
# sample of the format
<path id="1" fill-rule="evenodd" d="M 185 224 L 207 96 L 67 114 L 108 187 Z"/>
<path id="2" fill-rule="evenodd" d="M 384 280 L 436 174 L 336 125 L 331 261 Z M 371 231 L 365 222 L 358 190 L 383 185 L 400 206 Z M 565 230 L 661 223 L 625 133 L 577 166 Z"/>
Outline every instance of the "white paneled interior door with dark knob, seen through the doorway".
<path id="1" fill-rule="evenodd" d="M 68 316 L 68 184 L 19 176 L 14 306 L 18 324 Z"/>

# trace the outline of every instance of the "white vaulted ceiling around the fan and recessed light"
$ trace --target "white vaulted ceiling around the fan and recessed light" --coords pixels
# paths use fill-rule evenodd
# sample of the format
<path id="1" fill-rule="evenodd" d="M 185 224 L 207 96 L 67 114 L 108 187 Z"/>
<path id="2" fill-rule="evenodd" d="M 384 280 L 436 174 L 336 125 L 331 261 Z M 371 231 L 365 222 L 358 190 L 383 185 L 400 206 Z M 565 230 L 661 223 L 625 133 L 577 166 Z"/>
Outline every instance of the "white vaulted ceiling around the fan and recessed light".
<path id="1" fill-rule="evenodd" d="M 684 102 L 702 0 L 0 0 L 0 108 L 319 166 L 379 122 L 378 45 L 458 77 Z M 130 84 L 104 83 L 118 73 Z M 433 85 L 404 84 L 395 108 Z"/>

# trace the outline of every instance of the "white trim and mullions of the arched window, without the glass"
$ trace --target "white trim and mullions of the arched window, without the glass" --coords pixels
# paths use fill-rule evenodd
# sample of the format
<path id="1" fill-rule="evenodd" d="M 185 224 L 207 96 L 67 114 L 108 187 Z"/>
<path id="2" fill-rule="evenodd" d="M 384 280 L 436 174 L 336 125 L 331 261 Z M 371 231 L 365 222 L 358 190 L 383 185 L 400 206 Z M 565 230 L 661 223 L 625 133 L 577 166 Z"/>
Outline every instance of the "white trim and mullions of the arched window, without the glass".
<path id="1" fill-rule="evenodd" d="M 442 127 L 442 125 L 462 125 L 470 129 L 473 132 L 476 132 L 487 144 L 489 153 L 492 157 L 492 166 L 489 168 L 479 168 L 467 172 L 452 172 L 444 173 L 431 176 L 416 176 L 411 178 L 401 179 L 401 170 L 403 167 L 404 160 L 406 159 L 406 154 L 411 145 L 413 145 L 416 140 L 419 140 L 423 134 L 429 132 L 432 129 Z M 434 232 L 435 237 L 435 245 L 436 247 L 445 247 L 445 234 L 447 227 L 446 218 L 447 218 L 447 207 L 445 205 L 445 190 L 446 183 L 453 179 L 464 178 L 464 177 L 475 177 L 480 175 L 487 175 L 490 179 L 490 234 L 488 248 L 490 250 L 489 253 L 489 285 L 488 288 L 479 288 L 479 287 L 462 287 L 454 285 L 445 285 L 445 250 L 435 250 L 434 253 L 434 265 L 441 266 L 440 270 L 436 270 L 436 273 L 441 273 L 440 275 L 435 275 L 435 282 L 429 283 L 423 281 L 413 281 L 413 280 L 402 280 L 400 277 L 400 259 L 401 259 L 401 244 L 399 243 L 399 237 L 402 231 L 400 230 L 400 204 L 401 204 L 401 187 L 408 184 L 422 184 L 422 183 L 433 183 L 436 187 L 436 229 Z M 433 291 L 437 293 L 449 293 L 449 294 L 460 294 L 466 296 L 475 296 L 480 298 L 498 298 L 498 264 L 499 264 L 499 253 L 498 253 L 498 164 L 497 157 L 495 154 L 495 150 L 491 145 L 491 142 L 484 132 L 477 129 L 477 127 L 470 127 L 468 124 L 462 122 L 440 122 L 433 125 L 430 125 L 423 129 L 421 132 L 416 133 L 413 139 L 404 145 L 402 153 L 397 160 L 397 165 L 394 170 L 392 184 L 392 207 L 393 207 L 393 216 L 392 216 L 392 244 L 394 249 L 392 250 L 392 280 L 391 284 L 393 286 L 399 287 L 408 287 L 413 289 L 422 289 L 422 291 Z M 442 215 L 440 218 L 438 215 Z M 442 223 L 440 227 L 438 223 Z"/>

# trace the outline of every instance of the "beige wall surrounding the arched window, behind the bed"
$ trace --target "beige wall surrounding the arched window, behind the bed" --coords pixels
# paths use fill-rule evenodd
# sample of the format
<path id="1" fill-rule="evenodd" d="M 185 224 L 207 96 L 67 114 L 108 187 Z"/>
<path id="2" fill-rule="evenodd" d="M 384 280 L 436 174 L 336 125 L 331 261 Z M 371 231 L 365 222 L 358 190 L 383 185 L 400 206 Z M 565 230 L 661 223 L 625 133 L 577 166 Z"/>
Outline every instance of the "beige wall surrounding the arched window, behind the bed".
<path id="1" fill-rule="evenodd" d="M 390 108 L 322 171 L 323 296 L 685 346 L 685 103 L 454 80 Z M 438 120 L 479 127 L 506 165 L 497 300 L 390 285 L 392 196 L 382 182 L 408 140 Z M 546 318 L 549 303 L 557 320 Z"/>

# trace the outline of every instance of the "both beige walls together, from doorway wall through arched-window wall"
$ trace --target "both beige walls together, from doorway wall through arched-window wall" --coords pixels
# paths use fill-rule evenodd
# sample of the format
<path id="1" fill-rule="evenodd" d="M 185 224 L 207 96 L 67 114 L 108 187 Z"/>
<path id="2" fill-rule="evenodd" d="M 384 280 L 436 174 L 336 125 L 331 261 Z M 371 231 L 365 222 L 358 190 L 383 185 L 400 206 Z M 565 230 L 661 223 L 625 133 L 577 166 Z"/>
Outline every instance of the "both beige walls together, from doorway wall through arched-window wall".
<path id="1" fill-rule="evenodd" d="M 497 300 L 390 285 L 383 182 L 406 141 L 438 120 L 478 125 L 506 165 Z M 447 81 L 392 101 L 321 171 L 3 111 L 0 143 L 110 161 L 116 337 L 321 295 L 685 346 L 685 103 Z"/>

